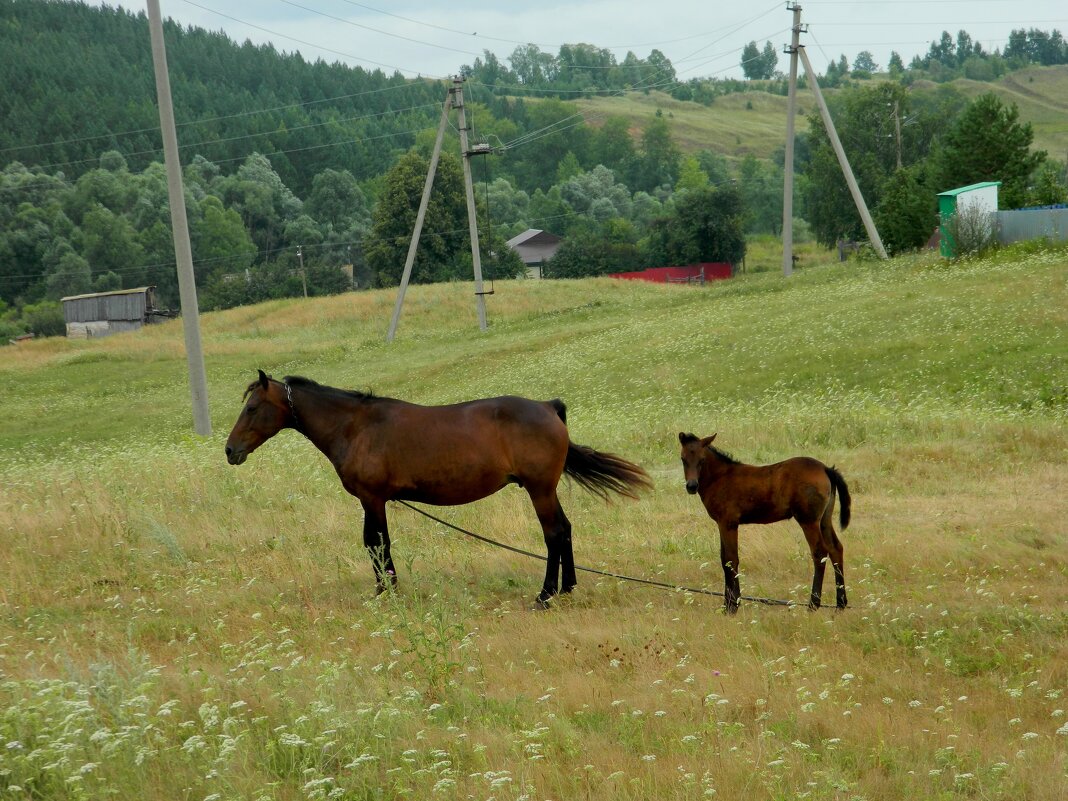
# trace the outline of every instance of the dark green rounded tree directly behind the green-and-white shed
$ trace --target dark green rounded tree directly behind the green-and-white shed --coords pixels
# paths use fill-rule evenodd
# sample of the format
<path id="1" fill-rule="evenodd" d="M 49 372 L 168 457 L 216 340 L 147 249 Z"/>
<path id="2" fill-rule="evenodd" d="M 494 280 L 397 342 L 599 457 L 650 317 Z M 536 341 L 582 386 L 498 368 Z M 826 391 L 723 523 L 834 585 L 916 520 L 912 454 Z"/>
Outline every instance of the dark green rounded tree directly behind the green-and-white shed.
<path id="1" fill-rule="evenodd" d="M 1032 153 L 1034 131 L 1019 119 L 1017 105 L 1006 107 L 992 92 L 973 100 L 946 132 L 936 157 L 939 191 L 1000 180 L 1000 205 L 1024 205 L 1031 174 L 1047 154 Z"/>

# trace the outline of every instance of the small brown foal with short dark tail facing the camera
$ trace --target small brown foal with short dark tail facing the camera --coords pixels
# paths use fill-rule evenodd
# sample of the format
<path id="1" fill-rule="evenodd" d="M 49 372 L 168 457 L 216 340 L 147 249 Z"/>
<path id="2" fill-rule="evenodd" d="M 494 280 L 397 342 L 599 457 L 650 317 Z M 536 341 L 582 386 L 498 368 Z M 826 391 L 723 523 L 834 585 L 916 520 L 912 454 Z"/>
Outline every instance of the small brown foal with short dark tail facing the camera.
<path id="1" fill-rule="evenodd" d="M 834 590 L 838 609 L 846 608 L 846 574 L 843 547 L 831 523 L 834 494 L 842 497 L 838 522 L 849 525 L 849 487 L 833 467 L 796 456 L 775 465 L 742 465 L 712 446 L 711 437 L 678 435 L 682 445 L 686 491 L 701 494 L 708 516 L 720 529 L 720 561 L 723 563 L 724 597 L 729 613 L 738 611 L 738 525 L 773 523 L 794 518 L 801 525 L 812 551 L 812 598 L 810 609 L 819 609 L 823 569 L 830 556 L 834 566 Z"/>

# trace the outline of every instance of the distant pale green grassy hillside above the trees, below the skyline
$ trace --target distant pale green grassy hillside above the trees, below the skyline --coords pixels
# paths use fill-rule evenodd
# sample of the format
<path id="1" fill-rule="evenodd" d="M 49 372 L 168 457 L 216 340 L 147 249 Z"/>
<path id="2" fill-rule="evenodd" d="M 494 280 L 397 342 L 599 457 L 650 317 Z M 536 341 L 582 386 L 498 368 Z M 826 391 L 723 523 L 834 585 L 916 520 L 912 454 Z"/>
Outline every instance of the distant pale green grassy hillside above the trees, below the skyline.
<path id="1" fill-rule="evenodd" d="M 1068 154 L 1068 65 L 1028 67 L 1010 73 L 992 83 L 956 80 L 948 85 L 969 97 L 996 93 L 1006 103 L 1016 103 L 1020 119 L 1035 130 L 1034 147 L 1064 159 Z M 930 91 L 930 81 L 917 81 L 914 92 Z M 833 96 L 837 90 L 823 90 Z M 577 101 L 593 124 L 608 114 L 633 120 L 640 130 L 645 121 L 661 110 L 669 116 L 672 136 L 684 152 L 708 148 L 731 158 L 752 154 L 771 158 L 786 136 L 786 98 L 767 92 L 745 92 L 718 97 L 711 107 L 675 100 L 662 92 L 626 97 L 594 97 Z M 798 92 L 798 113 L 803 117 L 816 109 L 811 90 Z M 807 123 L 798 121 L 798 129 Z"/>

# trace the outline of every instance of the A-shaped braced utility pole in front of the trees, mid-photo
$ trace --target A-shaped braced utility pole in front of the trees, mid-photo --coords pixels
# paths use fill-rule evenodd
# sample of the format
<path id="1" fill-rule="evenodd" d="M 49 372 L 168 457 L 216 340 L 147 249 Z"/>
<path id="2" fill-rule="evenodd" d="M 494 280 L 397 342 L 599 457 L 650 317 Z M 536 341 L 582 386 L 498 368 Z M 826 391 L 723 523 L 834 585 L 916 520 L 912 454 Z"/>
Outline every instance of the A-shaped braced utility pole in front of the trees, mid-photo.
<path id="1" fill-rule="evenodd" d="M 415 227 L 412 231 L 411 241 L 408 244 L 408 257 L 405 260 L 404 272 L 400 276 L 400 287 L 397 292 L 397 301 L 393 307 L 393 317 L 390 319 L 390 330 L 386 334 L 387 342 L 393 342 L 396 335 L 397 324 L 400 320 L 400 309 L 404 305 L 404 296 L 408 290 L 408 282 L 411 280 L 411 268 L 415 263 L 415 250 L 419 248 L 419 237 L 423 231 L 423 221 L 426 218 L 426 207 L 430 202 L 430 189 L 434 187 L 434 175 L 438 171 L 438 160 L 441 157 L 441 142 L 445 136 L 445 127 L 449 124 L 449 112 L 453 108 L 459 112 L 459 134 L 460 151 L 464 156 L 464 189 L 467 194 L 468 209 L 468 231 L 471 235 L 471 262 L 474 266 L 474 294 L 475 304 L 478 314 L 478 328 L 486 330 L 486 295 L 491 293 L 483 292 L 482 285 L 482 256 L 478 252 L 478 218 L 475 214 L 474 187 L 471 183 L 471 161 L 472 155 L 489 153 L 488 146 L 482 146 L 473 151 L 468 150 L 468 127 L 467 116 L 464 113 L 464 78 L 454 78 L 453 87 L 445 97 L 445 105 L 441 109 L 441 123 L 438 125 L 438 138 L 434 142 L 434 153 L 430 155 L 430 167 L 426 171 L 426 182 L 423 184 L 423 197 L 419 202 L 419 211 L 415 214 Z"/>

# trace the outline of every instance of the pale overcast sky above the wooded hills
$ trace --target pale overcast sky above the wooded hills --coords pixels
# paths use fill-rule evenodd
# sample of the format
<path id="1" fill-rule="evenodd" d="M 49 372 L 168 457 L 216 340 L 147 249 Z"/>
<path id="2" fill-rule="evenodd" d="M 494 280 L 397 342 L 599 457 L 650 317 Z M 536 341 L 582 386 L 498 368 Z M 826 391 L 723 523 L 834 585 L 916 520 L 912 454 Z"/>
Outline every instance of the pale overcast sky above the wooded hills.
<path id="1" fill-rule="evenodd" d="M 99 0 L 97 0 L 99 4 Z M 144 0 L 108 4 L 144 11 Z M 622 61 L 654 48 L 678 73 L 742 77 L 741 48 L 771 42 L 787 59 L 792 15 L 785 2 L 709 0 L 160 0 L 164 17 L 225 31 L 237 42 L 272 42 L 309 60 L 444 77 L 484 50 L 507 63 L 518 44 L 555 54 L 561 44 L 588 43 Z M 1003 48 L 1017 28 L 1068 33 L 1068 0 L 801 0 L 802 34 L 819 72 L 845 54 L 868 50 L 885 67 L 892 50 L 905 63 L 925 53 L 942 31 L 968 31 L 986 50 Z"/>

